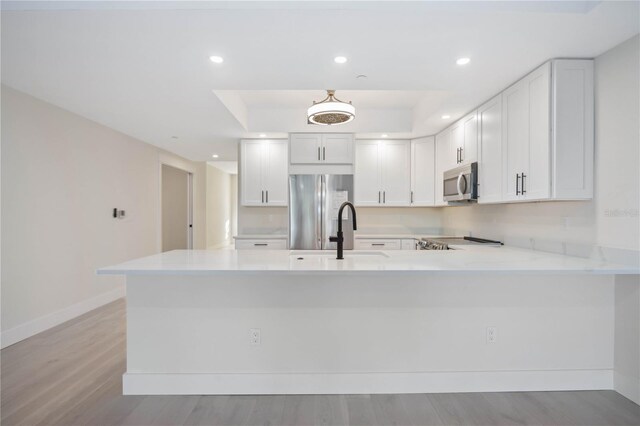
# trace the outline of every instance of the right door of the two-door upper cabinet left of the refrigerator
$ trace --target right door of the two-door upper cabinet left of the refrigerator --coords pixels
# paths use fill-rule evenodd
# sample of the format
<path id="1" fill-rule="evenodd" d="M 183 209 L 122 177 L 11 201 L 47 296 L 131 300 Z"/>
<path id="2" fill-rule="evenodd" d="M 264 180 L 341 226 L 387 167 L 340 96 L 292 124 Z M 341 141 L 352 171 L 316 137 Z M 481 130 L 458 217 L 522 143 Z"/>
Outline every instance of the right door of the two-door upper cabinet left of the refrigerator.
<path id="1" fill-rule="evenodd" d="M 287 205 L 287 141 L 268 141 L 264 157 L 265 204 Z"/>

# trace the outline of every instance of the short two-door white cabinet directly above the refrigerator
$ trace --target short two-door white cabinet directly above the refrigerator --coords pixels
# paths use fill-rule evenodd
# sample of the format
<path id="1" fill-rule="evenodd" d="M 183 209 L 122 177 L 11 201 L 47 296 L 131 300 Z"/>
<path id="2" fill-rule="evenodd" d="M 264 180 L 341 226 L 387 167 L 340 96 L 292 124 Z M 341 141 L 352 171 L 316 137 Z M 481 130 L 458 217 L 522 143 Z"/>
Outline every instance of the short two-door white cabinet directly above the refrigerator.
<path id="1" fill-rule="evenodd" d="M 350 133 L 292 133 L 291 164 L 353 164 Z"/>

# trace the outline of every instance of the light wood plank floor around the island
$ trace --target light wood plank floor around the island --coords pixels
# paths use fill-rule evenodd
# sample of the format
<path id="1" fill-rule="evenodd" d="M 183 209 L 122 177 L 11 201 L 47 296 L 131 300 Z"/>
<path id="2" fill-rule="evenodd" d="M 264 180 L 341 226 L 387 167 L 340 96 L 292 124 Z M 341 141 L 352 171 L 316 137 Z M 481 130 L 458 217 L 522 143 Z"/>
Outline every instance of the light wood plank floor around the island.
<path id="1" fill-rule="evenodd" d="M 613 391 L 122 396 L 120 300 L 1 352 L 9 425 L 640 425 Z"/>

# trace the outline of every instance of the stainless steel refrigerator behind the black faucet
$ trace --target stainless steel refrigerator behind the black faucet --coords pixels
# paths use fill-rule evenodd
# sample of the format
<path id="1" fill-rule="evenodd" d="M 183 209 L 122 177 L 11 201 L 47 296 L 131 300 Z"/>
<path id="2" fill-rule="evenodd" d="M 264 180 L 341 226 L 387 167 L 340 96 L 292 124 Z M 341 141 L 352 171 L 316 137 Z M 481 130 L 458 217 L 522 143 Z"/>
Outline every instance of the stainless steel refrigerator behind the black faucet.
<path id="1" fill-rule="evenodd" d="M 353 202 L 353 175 L 289 176 L 289 249 L 333 250 L 330 236 L 338 232 L 338 208 Z M 353 218 L 342 213 L 345 250 L 353 249 Z"/>

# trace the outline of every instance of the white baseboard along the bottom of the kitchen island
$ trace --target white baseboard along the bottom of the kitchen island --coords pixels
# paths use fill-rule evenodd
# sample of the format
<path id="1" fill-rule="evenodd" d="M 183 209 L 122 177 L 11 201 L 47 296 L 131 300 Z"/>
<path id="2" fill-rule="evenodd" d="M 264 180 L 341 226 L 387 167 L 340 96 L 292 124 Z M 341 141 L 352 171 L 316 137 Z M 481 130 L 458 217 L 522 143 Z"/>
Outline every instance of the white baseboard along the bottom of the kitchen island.
<path id="1" fill-rule="evenodd" d="M 272 395 L 613 389 L 613 370 L 346 374 L 125 373 L 125 395 Z"/>

